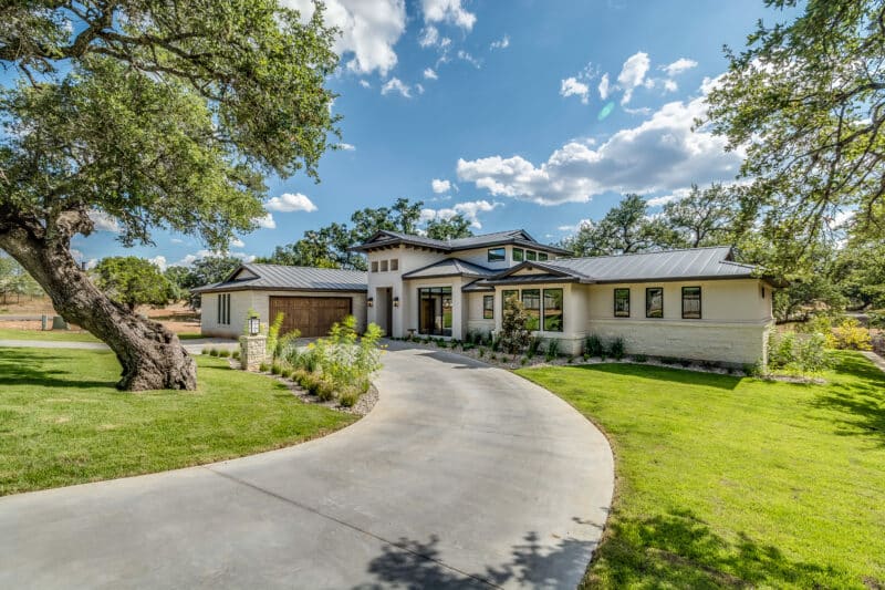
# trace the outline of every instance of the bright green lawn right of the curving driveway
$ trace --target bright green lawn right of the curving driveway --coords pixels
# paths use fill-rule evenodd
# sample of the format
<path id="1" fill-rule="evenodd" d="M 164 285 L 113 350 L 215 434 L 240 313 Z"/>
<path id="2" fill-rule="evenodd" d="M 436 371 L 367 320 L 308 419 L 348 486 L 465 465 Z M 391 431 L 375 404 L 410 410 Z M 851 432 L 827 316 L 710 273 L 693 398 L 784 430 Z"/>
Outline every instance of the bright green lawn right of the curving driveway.
<path id="1" fill-rule="evenodd" d="M 600 425 L 616 498 L 584 586 L 885 588 L 885 374 L 826 385 L 633 364 L 517 371 Z"/>

